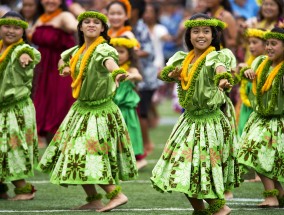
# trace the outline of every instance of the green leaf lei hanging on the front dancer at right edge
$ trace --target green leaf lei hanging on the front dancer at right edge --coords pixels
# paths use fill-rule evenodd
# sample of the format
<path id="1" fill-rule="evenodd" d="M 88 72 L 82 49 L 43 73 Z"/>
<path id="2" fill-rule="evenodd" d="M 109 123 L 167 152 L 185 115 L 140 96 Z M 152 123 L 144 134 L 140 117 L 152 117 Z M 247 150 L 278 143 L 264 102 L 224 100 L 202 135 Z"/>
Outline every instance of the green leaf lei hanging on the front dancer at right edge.
<path id="1" fill-rule="evenodd" d="M 284 64 L 282 64 L 280 70 L 278 71 L 278 74 L 274 78 L 274 84 L 272 85 L 272 89 L 271 89 L 272 93 L 271 93 L 270 103 L 268 105 L 268 108 L 265 109 L 264 106 L 263 106 L 263 102 L 262 102 L 263 94 L 261 93 L 261 88 L 266 81 L 267 74 L 269 72 L 269 68 L 270 68 L 271 64 L 272 64 L 272 62 L 268 61 L 268 63 L 263 68 L 264 71 L 262 71 L 260 80 L 257 83 L 257 87 L 256 87 L 256 101 L 257 101 L 257 104 L 258 104 L 258 107 L 259 107 L 258 112 L 263 116 L 270 116 L 274 112 L 276 100 L 277 100 L 277 95 L 278 95 L 278 89 L 279 89 L 279 85 L 280 85 L 280 82 L 281 82 L 281 77 L 284 75 Z"/>

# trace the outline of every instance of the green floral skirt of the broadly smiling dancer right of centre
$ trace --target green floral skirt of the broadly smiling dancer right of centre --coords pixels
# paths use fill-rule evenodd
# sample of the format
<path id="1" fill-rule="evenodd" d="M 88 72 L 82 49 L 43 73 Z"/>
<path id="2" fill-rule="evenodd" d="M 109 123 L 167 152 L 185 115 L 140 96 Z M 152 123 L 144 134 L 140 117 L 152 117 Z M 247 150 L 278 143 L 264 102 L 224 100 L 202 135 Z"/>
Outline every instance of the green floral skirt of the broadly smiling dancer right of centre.
<path id="1" fill-rule="evenodd" d="M 231 126 L 217 110 L 202 116 L 180 116 L 152 172 L 154 188 L 198 199 L 223 199 L 239 186 L 237 152 Z"/>

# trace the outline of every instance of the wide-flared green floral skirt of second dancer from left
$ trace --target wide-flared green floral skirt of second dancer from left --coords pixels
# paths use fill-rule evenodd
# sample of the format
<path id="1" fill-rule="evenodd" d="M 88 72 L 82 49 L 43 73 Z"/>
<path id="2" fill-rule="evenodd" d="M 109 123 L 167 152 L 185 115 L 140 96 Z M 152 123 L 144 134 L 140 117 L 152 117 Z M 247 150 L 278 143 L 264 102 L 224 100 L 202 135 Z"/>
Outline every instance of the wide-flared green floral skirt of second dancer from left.
<path id="1" fill-rule="evenodd" d="M 118 184 L 137 176 L 129 134 L 118 107 L 77 101 L 47 147 L 38 168 L 54 184 Z"/>

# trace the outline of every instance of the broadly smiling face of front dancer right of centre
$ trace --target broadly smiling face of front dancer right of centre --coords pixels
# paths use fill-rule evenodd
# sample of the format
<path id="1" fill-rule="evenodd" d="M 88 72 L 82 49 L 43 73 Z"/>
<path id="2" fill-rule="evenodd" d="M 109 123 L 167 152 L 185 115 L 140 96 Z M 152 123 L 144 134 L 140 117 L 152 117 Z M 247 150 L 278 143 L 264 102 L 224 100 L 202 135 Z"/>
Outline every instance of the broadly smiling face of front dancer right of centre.
<path id="1" fill-rule="evenodd" d="M 212 39 L 209 26 L 193 27 L 190 30 L 190 42 L 196 50 L 205 51 L 211 45 Z"/>

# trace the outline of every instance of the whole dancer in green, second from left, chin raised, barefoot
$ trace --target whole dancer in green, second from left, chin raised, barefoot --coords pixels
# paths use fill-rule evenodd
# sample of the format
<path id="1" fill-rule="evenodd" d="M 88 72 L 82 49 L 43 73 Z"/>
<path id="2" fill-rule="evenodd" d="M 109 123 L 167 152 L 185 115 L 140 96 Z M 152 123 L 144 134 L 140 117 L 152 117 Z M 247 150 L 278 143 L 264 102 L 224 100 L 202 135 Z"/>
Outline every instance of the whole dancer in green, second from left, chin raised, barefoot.
<path id="1" fill-rule="evenodd" d="M 88 203 L 80 209 L 109 211 L 127 203 L 118 186 L 120 180 L 137 176 L 127 127 L 113 102 L 126 72 L 117 65 L 117 51 L 108 45 L 106 16 L 87 11 L 78 21 L 79 46 L 63 52 L 59 62 L 61 74 L 71 74 L 77 101 L 46 149 L 39 169 L 50 173 L 54 184 L 82 185 Z M 110 200 L 106 206 L 95 184 L 106 191 Z"/>

